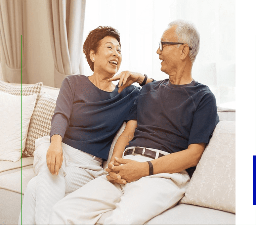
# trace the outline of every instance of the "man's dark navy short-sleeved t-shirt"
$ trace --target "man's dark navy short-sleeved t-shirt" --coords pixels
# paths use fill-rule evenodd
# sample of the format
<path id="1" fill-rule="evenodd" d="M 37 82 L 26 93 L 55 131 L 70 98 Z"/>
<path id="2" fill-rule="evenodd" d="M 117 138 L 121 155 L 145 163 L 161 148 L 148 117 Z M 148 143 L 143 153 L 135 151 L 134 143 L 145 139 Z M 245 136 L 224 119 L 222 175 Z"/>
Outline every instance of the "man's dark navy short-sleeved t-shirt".
<path id="1" fill-rule="evenodd" d="M 173 153 L 189 144 L 208 144 L 219 122 L 214 94 L 196 81 L 185 85 L 173 85 L 169 79 L 148 83 L 134 107 L 138 126 L 129 146 Z"/>

